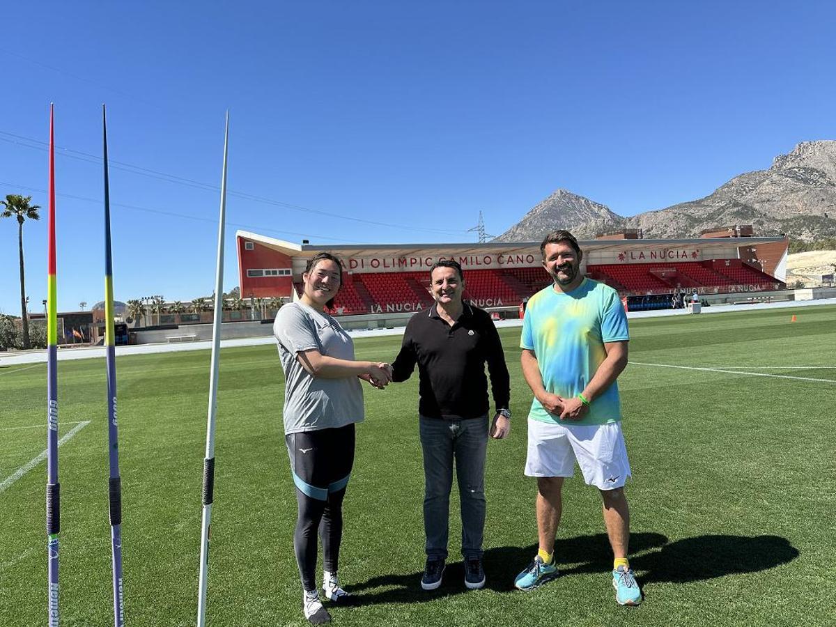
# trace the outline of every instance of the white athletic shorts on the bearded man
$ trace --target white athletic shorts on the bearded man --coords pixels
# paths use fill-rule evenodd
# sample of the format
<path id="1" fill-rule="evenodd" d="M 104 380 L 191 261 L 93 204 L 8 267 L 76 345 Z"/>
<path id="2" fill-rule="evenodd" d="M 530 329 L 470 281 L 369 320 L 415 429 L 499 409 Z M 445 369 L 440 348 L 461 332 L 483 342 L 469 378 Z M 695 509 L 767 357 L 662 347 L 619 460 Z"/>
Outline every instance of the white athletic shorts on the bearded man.
<path id="1" fill-rule="evenodd" d="M 527 477 L 572 477 L 575 461 L 587 485 L 601 490 L 624 487 L 630 461 L 621 423 L 572 425 L 528 419 Z"/>

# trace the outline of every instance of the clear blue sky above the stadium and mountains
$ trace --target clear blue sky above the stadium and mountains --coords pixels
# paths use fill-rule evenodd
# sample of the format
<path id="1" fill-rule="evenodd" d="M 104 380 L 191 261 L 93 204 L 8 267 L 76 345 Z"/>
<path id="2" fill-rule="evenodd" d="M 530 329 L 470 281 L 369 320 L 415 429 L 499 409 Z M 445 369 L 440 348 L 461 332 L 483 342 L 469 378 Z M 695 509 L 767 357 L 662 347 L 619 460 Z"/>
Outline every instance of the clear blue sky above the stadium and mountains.
<path id="1" fill-rule="evenodd" d="M 836 137 L 833 3 L 586 4 L 9 3 L 0 196 L 43 206 L 31 308 L 53 101 L 62 310 L 103 298 L 103 102 L 120 300 L 212 292 L 227 107 L 229 189 L 266 199 L 228 198 L 227 291 L 237 228 L 472 242 L 480 210 L 499 234 L 558 187 L 632 215 Z M 0 267 L 19 314 L 11 220 Z"/>

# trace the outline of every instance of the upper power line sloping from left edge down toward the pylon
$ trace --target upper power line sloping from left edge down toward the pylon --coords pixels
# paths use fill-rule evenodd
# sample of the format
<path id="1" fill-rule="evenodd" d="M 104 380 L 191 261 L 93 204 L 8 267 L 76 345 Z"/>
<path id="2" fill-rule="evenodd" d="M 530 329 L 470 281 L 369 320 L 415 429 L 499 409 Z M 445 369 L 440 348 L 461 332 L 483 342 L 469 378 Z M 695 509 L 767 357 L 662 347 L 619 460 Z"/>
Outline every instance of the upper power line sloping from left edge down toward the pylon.
<path id="1" fill-rule="evenodd" d="M 8 131 L 4 131 L 4 130 L 0 130 L 0 135 L 6 135 L 6 137 L 0 136 L 0 140 L 5 141 L 9 144 L 22 145 L 26 148 L 32 148 L 33 150 L 43 150 L 43 151 L 47 150 L 47 148 L 45 148 L 43 146 L 48 146 L 48 144 L 46 142 L 41 141 L 41 140 L 36 140 L 36 139 L 31 138 L 31 137 L 26 137 L 24 135 L 16 135 L 14 133 L 9 133 Z M 9 138 L 13 138 L 13 139 L 9 139 Z M 25 142 L 31 142 L 31 143 L 36 144 L 36 145 L 22 143 L 24 141 Z M 60 154 L 62 154 L 64 156 L 67 156 L 71 159 L 76 159 L 78 161 L 84 161 L 86 163 L 95 163 L 95 164 L 101 163 L 101 157 L 99 157 L 98 155 L 91 155 L 91 154 L 83 152 L 81 150 L 74 150 L 74 149 L 71 149 L 71 148 L 64 148 L 64 147 L 61 147 L 61 146 L 55 146 L 55 150 L 58 150 L 60 152 Z M 192 179 L 188 179 L 188 178 L 183 177 L 183 176 L 176 176 L 176 175 L 173 175 L 173 174 L 168 174 L 166 172 L 151 170 L 150 168 L 145 168 L 145 167 L 142 167 L 142 166 L 134 166 L 130 163 L 125 163 L 124 161 L 109 160 L 109 163 L 110 163 L 111 169 L 126 171 L 126 172 L 130 172 L 131 174 L 136 174 L 136 175 L 139 175 L 139 176 L 148 176 L 150 178 L 154 178 L 154 179 L 157 179 L 157 180 L 160 180 L 160 181 L 166 181 L 166 182 L 174 183 L 176 185 L 194 187 L 194 188 L 201 189 L 201 190 L 204 190 L 204 191 L 220 191 L 220 187 L 211 185 L 209 183 L 203 183 L 201 181 L 194 181 Z M 285 209 L 292 209 L 293 211 L 297 211 L 297 212 L 314 213 L 314 214 L 319 215 L 319 216 L 334 217 L 334 218 L 338 218 L 340 220 L 348 220 L 349 222 L 359 222 L 361 224 L 368 224 L 368 225 L 374 226 L 374 227 L 395 228 L 395 229 L 400 229 L 400 230 L 403 230 L 403 231 L 410 231 L 410 232 L 415 232 L 415 231 L 430 232 L 430 233 L 436 233 L 436 234 L 441 234 L 441 235 L 451 235 L 451 234 L 462 235 L 463 234 L 462 231 L 456 231 L 456 230 L 451 230 L 451 229 L 410 227 L 410 226 L 407 226 L 407 225 L 391 224 L 390 222 L 377 222 L 377 221 L 374 221 L 374 220 L 364 220 L 363 218 L 359 218 L 359 217 L 343 216 L 343 215 L 340 215 L 339 213 L 326 212 L 326 211 L 323 211 L 321 209 L 313 209 L 313 208 L 307 207 L 307 206 L 294 205 L 294 204 L 289 203 L 289 202 L 277 201 L 277 200 L 274 200 L 273 198 L 268 198 L 266 196 L 256 196 L 254 194 L 249 194 L 245 191 L 229 190 L 229 191 L 227 191 L 227 194 L 229 196 L 236 196 L 237 198 L 242 198 L 243 200 L 248 200 L 248 201 L 253 201 L 253 202 L 261 202 L 263 204 L 273 205 L 273 206 L 281 206 Z"/>

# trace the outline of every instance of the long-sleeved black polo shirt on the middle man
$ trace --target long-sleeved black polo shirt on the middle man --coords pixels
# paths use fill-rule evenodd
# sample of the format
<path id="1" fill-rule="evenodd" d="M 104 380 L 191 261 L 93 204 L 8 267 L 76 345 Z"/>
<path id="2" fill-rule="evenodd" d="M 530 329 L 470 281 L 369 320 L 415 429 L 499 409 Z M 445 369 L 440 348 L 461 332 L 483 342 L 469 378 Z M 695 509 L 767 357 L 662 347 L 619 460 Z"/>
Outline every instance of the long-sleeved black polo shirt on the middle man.
<path id="1" fill-rule="evenodd" d="M 464 303 L 450 326 L 434 304 L 412 316 L 395 362 L 395 382 L 410 378 L 418 364 L 418 412 L 428 418 L 477 418 L 487 414 L 487 376 L 497 410 L 507 409 L 511 380 L 497 328 L 484 309 Z"/>

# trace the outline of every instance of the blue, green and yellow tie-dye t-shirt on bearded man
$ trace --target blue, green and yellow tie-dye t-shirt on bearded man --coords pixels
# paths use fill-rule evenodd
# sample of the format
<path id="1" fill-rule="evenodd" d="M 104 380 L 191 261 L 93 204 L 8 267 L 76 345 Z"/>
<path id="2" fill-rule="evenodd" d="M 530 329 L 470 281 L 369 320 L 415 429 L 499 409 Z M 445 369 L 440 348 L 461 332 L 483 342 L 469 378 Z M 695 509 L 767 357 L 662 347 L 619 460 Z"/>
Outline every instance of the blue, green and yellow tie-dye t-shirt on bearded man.
<path id="1" fill-rule="evenodd" d="M 558 293 L 549 285 L 529 299 L 520 348 L 534 351 L 546 390 L 572 398 L 584 391 L 607 356 L 604 342 L 628 339 L 627 315 L 618 293 L 604 283 L 584 278 L 572 292 Z M 537 399 L 528 417 L 559 422 Z M 592 402 L 584 419 L 572 424 L 603 425 L 620 420 L 619 387 L 613 382 Z"/>

